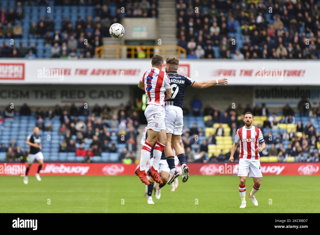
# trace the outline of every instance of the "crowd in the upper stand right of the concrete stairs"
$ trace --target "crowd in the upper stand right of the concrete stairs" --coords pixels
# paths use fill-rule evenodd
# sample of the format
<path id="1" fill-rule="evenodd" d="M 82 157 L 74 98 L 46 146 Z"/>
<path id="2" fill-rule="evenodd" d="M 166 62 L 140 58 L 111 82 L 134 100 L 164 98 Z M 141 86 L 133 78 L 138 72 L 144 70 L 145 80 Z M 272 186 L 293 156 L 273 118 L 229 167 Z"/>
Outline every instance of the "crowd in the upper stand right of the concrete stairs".
<path id="1" fill-rule="evenodd" d="M 320 59 L 313 0 L 177 0 L 178 45 L 190 59 Z"/>

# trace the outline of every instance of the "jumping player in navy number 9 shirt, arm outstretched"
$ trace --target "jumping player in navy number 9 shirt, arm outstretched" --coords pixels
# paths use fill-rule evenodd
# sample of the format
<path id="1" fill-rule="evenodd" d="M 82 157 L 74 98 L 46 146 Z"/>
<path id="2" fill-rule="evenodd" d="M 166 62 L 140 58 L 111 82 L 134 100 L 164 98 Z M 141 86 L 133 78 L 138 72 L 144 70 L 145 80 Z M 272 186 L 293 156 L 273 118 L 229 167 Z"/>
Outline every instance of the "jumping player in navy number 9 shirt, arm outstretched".
<path id="1" fill-rule="evenodd" d="M 171 144 L 176 151 L 181 165 L 182 182 L 187 182 L 189 178 L 189 168 L 186 164 L 184 149 L 180 146 L 180 139 L 183 127 L 182 101 L 187 86 L 194 88 L 207 88 L 216 84 L 228 84 L 228 79 L 222 78 L 212 81 L 196 82 L 189 77 L 177 73 L 179 59 L 168 57 L 165 64 L 165 72 L 168 74 L 171 85 L 171 98 L 165 102 L 165 127 L 167 132 L 167 144 L 164 147 L 166 160 L 170 168 L 168 184 L 171 184 L 179 172 L 175 168 L 174 155 Z"/>

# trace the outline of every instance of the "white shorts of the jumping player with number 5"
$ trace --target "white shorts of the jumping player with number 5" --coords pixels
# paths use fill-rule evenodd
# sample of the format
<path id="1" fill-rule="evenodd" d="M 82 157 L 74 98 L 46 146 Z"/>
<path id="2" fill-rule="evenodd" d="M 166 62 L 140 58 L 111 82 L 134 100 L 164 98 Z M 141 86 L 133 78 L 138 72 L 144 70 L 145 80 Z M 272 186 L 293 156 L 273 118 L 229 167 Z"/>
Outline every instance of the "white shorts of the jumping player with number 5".
<path id="1" fill-rule="evenodd" d="M 148 105 L 144 111 L 144 115 L 147 118 L 148 126 L 147 129 L 151 129 L 157 132 L 165 130 L 165 111 L 163 106 L 159 105 Z"/>

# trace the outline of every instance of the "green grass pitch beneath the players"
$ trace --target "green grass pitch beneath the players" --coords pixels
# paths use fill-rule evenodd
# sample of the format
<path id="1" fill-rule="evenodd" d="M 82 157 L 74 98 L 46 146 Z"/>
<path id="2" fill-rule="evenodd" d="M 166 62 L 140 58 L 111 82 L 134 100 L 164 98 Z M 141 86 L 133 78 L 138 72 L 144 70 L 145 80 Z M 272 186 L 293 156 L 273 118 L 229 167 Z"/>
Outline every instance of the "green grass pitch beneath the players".
<path id="1" fill-rule="evenodd" d="M 1 176 L 1 213 L 318 213 L 319 176 L 265 176 L 256 193 L 258 207 L 248 198 L 252 178 L 247 178 L 247 207 L 240 209 L 237 176 L 190 176 L 188 182 L 148 205 L 145 186 L 137 176 Z M 50 202 L 50 204 L 49 204 Z"/>

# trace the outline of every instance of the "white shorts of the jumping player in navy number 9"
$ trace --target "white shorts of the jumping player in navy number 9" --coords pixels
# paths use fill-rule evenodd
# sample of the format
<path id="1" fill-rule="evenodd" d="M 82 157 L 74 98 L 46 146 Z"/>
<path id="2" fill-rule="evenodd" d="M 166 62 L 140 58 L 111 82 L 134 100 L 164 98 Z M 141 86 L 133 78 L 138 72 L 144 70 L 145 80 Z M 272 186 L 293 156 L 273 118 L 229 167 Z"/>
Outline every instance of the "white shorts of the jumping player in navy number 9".
<path id="1" fill-rule="evenodd" d="M 182 135 L 183 112 L 178 106 L 168 105 L 165 109 L 165 127 L 167 133 Z"/>

